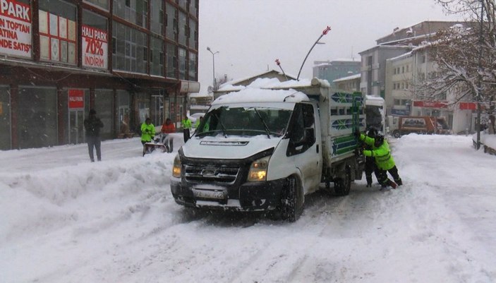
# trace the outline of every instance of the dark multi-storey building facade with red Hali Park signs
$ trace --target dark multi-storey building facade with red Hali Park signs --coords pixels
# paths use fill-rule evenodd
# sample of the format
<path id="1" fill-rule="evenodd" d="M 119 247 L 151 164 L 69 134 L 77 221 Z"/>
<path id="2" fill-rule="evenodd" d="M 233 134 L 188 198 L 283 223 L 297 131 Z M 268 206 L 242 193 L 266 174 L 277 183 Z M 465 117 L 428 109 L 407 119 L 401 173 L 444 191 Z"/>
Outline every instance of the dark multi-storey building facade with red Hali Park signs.
<path id="1" fill-rule="evenodd" d="M 2 0 L 0 150 L 85 142 L 146 117 L 181 121 L 198 92 L 198 0 Z"/>

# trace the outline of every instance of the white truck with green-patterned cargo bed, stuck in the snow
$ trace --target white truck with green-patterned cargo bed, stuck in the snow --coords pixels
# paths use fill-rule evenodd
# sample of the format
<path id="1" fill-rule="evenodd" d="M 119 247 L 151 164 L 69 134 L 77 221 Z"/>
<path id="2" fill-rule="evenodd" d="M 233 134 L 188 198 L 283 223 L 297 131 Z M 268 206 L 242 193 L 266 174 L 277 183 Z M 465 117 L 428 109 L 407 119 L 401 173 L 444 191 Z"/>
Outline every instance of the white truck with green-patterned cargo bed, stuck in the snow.
<path id="1" fill-rule="evenodd" d="M 362 178 L 356 128 L 365 130 L 363 97 L 327 80 L 223 95 L 174 159 L 171 193 L 179 205 L 275 210 L 294 222 L 322 182 L 348 195 Z"/>

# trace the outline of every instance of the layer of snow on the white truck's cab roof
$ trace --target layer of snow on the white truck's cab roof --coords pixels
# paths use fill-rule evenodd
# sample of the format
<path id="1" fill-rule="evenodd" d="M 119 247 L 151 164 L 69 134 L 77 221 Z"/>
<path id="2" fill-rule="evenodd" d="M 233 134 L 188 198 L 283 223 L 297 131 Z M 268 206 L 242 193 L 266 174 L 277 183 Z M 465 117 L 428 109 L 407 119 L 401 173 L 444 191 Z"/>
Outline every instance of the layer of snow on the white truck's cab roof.
<path id="1" fill-rule="evenodd" d="M 261 88 L 246 88 L 238 92 L 222 95 L 212 102 L 215 104 L 241 102 L 301 102 L 308 101 L 308 96 L 297 90 L 266 90 Z"/>

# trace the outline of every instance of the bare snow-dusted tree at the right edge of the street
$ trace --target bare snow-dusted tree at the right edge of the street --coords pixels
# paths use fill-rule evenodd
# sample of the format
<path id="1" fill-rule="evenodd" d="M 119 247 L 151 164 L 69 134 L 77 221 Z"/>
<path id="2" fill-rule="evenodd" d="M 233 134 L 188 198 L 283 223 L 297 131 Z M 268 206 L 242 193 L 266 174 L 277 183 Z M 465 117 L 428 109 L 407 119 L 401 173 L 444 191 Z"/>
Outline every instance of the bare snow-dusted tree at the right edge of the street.
<path id="1" fill-rule="evenodd" d="M 424 47 L 430 50 L 436 71 L 426 74 L 418 90 L 433 97 L 451 92 L 454 102 L 475 100 L 480 95 L 480 102 L 490 105 L 492 112 L 496 86 L 495 0 L 436 1 L 447 13 L 464 14 L 466 22 L 440 30 L 436 40 Z"/>

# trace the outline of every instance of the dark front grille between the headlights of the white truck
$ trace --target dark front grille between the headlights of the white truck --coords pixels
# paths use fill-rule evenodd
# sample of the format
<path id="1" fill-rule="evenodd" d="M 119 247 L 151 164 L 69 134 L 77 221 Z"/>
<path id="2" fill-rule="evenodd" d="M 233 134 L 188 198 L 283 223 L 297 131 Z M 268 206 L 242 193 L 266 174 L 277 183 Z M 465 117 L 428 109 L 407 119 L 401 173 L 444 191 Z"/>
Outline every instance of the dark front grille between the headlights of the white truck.
<path id="1" fill-rule="evenodd" d="M 234 183 L 239 167 L 184 165 L 186 181 L 196 183 Z"/>

